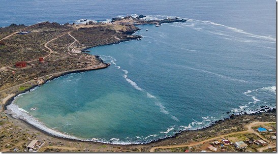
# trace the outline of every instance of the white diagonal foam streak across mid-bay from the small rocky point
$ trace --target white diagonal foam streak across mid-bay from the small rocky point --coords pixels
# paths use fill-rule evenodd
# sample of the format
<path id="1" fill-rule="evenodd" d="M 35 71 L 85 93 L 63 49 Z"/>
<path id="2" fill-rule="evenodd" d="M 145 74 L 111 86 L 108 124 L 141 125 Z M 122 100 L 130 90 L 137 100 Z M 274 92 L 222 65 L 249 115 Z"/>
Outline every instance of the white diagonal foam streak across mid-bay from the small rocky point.
<path id="1" fill-rule="evenodd" d="M 159 101 L 159 99 L 157 99 L 155 96 L 149 94 L 147 91 L 145 91 L 144 89 L 142 89 L 141 87 L 139 87 L 134 81 L 132 81 L 131 79 L 128 78 L 128 70 L 124 70 L 121 69 L 120 66 L 117 66 L 117 64 L 115 63 L 115 61 L 117 61 L 115 58 L 111 57 L 111 56 L 107 56 L 107 55 L 101 55 L 102 57 L 105 57 L 107 60 L 110 60 L 110 63 L 113 64 L 117 69 L 121 70 L 122 72 L 125 73 L 125 75 L 123 75 L 123 78 L 126 79 L 127 82 L 129 82 L 135 89 L 139 90 L 139 91 L 143 91 L 147 94 L 147 97 L 150 99 L 155 100 L 155 104 L 157 106 L 159 106 L 160 111 L 164 114 L 168 114 L 171 116 L 171 118 L 175 121 L 179 122 L 179 119 L 177 117 L 175 117 L 174 115 L 170 114 L 169 111 L 166 110 L 166 107 L 164 107 L 161 102 Z"/>

